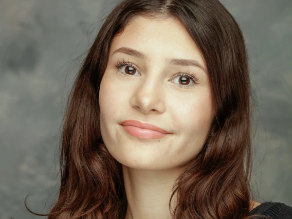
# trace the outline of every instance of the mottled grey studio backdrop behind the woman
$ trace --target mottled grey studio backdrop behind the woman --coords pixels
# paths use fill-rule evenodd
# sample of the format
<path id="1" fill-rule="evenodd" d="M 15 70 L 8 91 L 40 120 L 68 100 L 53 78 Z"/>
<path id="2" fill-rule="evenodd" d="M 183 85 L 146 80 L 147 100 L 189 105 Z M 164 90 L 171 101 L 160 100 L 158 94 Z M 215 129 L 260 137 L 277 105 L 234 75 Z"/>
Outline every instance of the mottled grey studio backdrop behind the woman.
<path id="1" fill-rule="evenodd" d="M 40 218 L 59 186 L 65 101 L 98 22 L 119 1 L 0 0 L 0 218 Z M 222 0 L 243 29 L 259 103 L 258 202 L 292 206 L 292 1 Z M 96 28 L 95 28 L 96 27 Z M 67 78 L 66 78 L 67 77 Z"/>

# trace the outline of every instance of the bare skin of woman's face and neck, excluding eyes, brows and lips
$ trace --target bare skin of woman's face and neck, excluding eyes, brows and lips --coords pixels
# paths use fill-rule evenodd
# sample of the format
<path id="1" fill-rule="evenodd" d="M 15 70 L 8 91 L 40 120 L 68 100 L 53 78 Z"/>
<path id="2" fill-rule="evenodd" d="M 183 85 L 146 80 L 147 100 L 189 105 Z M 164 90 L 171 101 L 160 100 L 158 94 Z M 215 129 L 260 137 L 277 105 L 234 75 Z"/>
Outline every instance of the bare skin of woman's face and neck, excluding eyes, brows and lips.
<path id="1" fill-rule="evenodd" d="M 121 47 L 143 52 L 147 59 L 112 54 Z M 214 117 L 207 73 L 195 66 L 167 65 L 167 58 L 196 60 L 206 69 L 198 47 L 177 19 L 137 16 L 109 49 L 99 93 L 100 126 L 106 148 L 122 164 L 128 201 L 125 219 L 171 218 L 168 203 L 174 180 L 202 149 Z M 118 59 L 132 62 L 135 74 L 129 75 L 129 65 L 124 65 L 118 69 L 130 77 L 119 75 L 114 66 Z M 190 80 L 185 84 L 194 86 L 179 87 L 185 85 L 179 82 L 184 76 L 175 77 L 179 71 L 195 74 L 198 84 Z M 119 124 L 129 119 L 172 134 L 137 138 Z"/>

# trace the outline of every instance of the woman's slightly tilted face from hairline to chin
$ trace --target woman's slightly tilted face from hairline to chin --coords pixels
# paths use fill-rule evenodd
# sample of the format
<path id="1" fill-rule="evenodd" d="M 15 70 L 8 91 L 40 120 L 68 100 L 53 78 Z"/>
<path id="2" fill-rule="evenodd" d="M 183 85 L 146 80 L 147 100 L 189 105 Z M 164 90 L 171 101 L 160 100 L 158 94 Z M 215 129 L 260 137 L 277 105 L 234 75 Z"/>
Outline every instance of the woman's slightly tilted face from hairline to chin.
<path id="1" fill-rule="evenodd" d="M 129 49 L 116 51 L 122 47 L 144 56 Z M 201 67 L 171 59 L 194 60 Z M 124 64 L 116 67 L 119 61 Z M 172 169 L 197 155 L 214 117 L 204 69 L 180 21 L 142 16 L 132 20 L 111 44 L 100 85 L 101 135 L 109 153 L 122 165 L 143 170 Z M 125 120 L 150 123 L 171 134 L 135 136 L 126 130 L 147 130 L 121 125 Z"/>

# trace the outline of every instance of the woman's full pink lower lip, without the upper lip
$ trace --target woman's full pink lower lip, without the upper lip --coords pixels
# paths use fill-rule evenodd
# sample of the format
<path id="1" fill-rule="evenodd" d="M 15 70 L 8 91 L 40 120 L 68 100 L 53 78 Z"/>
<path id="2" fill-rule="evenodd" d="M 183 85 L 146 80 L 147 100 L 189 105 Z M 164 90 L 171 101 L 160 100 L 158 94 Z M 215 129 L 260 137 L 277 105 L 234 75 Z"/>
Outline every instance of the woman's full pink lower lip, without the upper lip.
<path id="1" fill-rule="evenodd" d="M 122 125 L 122 127 L 125 131 L 138 138 L 162 138 L 168 135 L 150 129 L 140 129 L 139 127 L 131 125 Z"/>

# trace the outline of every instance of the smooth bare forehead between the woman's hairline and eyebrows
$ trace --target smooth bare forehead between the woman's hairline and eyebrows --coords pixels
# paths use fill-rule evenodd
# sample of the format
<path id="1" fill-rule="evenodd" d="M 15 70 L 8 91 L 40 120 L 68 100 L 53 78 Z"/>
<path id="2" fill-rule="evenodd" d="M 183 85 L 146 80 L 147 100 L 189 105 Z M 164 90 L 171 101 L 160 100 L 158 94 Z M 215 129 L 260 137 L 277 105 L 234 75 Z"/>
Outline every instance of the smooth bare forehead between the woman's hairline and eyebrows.
<path id="1" fill-rule="evenodd" d="M 163 20 L 136 16 L 122 34 L 115 36 L 110 54 L 120 47 L 142 51 L 148 61 L 167 58 L 195 59 L 205 66 L 199 49 L 185 26 L 176 18 Z"/>

